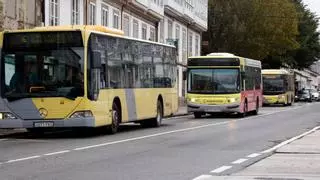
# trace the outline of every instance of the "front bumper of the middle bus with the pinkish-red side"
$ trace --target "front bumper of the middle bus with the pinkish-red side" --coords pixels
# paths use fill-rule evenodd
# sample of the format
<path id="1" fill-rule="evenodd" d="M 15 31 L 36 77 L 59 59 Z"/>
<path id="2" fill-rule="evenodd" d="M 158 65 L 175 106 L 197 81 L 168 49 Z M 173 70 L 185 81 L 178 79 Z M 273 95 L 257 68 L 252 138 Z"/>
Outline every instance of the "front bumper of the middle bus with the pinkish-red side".
<path id="1" fill-rule="evenodd" d="M 224 105 L 207 105 L 207 104 L 195 104 L 188 102 L 188 112 L 240 112 L 240 103 L 224 104 Z"/>

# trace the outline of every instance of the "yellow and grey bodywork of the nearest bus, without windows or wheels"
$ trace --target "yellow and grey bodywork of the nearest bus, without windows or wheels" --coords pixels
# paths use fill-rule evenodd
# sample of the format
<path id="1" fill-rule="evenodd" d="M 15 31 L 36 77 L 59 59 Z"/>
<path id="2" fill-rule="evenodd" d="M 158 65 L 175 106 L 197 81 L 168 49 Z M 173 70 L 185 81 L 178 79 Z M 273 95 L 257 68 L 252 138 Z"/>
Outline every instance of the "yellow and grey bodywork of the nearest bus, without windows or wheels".
<path id="1" fill-rule="evenodd" d="M 156 42 L 143 41 L 123 36 L 119 30 L 109 29 L 103 26 L 57 26 L 57 27 L 39 27 L 27 30 L 5 31 L 5 33 L 28 33 L 28 32 L 46 32 L 46 31 L 81 31 L 84 44 L 84 69 L 88 67 L 88 41 L 91 33 L 98 33 L 105 36 L 118 37 L 122 39 L 131 39 L 139 42 L 164 45 Z M 2 47 L 3 33 L 0 34 Z M 108 126 L 112 123 L 112 105 L 115 98 L 120 100 L 121 104 L 121 123 L 136 122 L 155 118 L 157 115 L 157 102 L 159 98 L 162 101 L 163 115 L 170 116 L 178 110 L 178 95 L 176 83 L 171 88 L 132 88 L 132 89 L 100 89 L 97 100 L 88 98 L 88 74 L 84 71 L 84 96 L 70 100 L 64 97 L 33 97 L 30 102 L 17 105 L 19 110 L 27 113 L 46 113 L 45 117 L 40 119 L 25 120 L 19 118 L 15 111 L 10 112 L 16 118 L 5 119 L 4 113 L 0 112 L 0 128 L 34 128 L 35 122 L 54 122 L 54 127 L 100 127 Z M 3 99 L 2 99 L 3 101 Z M 13 102 L 14 103 L 14 102 Z M 29 107 L 28 107 L 29 106 Z M 16 107 L 16 106 L 15 106 Z M 29 112 L 28 109 L 35 110 Z M 76 112 L 90 111 L 90 118 L 72 118 Z M 22 112 L 22 110 L 21 110 Z M 38 115 L 37 115 L 38 116 Z"/>

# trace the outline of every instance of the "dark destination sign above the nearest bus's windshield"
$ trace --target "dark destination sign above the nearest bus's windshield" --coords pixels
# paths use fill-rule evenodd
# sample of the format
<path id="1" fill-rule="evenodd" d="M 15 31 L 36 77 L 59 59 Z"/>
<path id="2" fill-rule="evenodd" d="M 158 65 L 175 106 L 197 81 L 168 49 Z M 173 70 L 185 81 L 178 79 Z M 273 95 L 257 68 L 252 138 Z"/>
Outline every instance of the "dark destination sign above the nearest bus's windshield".
<path id="1" fill-rule="evenodd" d="M 4 34 L 4 49 L 82 46 L 80 31 L 19 32 Z"/>

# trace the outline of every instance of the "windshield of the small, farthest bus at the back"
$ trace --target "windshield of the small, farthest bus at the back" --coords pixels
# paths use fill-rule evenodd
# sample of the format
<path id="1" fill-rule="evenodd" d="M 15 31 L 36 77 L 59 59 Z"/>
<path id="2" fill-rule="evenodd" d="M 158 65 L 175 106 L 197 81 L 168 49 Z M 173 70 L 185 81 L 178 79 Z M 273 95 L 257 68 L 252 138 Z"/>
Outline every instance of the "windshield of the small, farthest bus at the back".
<path id="1" fill-rule="evenodd" d="M 285 91 L 284 79 L 280 76 L 263 76 L 263 94 L 275 95 Z"/>

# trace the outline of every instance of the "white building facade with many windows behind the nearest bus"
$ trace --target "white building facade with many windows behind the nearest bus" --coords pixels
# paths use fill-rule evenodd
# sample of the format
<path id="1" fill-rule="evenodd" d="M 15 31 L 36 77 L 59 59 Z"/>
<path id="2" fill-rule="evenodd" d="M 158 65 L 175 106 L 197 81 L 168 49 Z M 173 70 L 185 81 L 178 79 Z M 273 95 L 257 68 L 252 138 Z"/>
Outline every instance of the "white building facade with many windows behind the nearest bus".
<path id="1" fill-rule="evenodd" d="M 139 39 L 178 40 L 178 89 L 184 97 L 183 71 L 188 56 L 200 55 L 208 0 L 45 0 L 44 6 L 46 26 L 103 25 Z"/>

